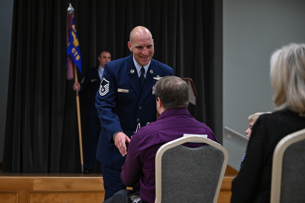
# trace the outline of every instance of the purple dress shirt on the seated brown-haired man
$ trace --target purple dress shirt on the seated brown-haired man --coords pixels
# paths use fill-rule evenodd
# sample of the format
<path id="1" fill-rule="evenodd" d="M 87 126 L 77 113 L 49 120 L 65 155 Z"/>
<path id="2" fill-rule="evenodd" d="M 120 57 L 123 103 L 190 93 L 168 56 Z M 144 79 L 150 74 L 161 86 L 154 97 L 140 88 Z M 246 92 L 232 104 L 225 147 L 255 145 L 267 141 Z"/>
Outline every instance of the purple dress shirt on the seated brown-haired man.
<path id="1" fill-rule="evenodd" d="M 140 182 L 140 197 L 143 201 L 154 202 L 156 198 L 156 152 L 163 144 L 180 138 L 183 134 L 207 135 L 209 139 L 218 142 L 213 131 L 206 124 L 196 121 L 186 108 L 165 110 L 157 121 L 139 128 L 132 136 L 121 180 L 127 187 L 136 186 Z M 184 145 L 194 148 L 203 144 Z"/>

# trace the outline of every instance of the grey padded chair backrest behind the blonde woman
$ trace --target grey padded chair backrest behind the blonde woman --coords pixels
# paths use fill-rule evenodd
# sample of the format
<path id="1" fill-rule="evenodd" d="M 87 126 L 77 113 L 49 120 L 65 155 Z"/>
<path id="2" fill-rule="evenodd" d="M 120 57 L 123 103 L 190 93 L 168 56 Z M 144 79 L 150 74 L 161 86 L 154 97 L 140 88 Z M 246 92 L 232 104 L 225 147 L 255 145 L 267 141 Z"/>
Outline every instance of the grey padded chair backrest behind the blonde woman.
<path id="1" fill-rule="evenodd" d="M 270 202 L 305 201 L 305 129 L 286 135 L 273 152 Z"/>

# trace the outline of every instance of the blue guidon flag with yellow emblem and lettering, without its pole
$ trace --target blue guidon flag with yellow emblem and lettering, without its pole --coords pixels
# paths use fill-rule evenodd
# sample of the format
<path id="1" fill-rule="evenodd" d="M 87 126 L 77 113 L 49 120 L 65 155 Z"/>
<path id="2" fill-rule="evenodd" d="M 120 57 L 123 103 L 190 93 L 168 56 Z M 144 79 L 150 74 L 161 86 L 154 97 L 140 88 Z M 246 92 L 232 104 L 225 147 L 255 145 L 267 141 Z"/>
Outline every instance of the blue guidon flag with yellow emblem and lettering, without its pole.
<path id="1" fill-rule="evenodd" d="M 66 52 L 71 56 L 74 64 L 81 72 L 81 51 L 79 49 L 78 37 L 76 34 L 74 18 L 72 19 L 71 32 L 69 37 L 69 43 Z"/>

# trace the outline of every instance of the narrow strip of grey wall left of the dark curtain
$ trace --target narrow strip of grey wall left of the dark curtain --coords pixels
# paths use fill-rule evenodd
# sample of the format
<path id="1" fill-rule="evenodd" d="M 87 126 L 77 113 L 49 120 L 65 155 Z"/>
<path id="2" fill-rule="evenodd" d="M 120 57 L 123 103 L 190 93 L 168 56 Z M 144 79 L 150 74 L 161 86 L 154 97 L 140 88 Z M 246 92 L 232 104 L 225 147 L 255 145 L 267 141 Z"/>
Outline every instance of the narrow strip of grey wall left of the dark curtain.
<path id="1" fill-rule="evenodd" d="M 9 86 L 9 60 L 11 52 L 11 35 L 13 20 L 13 0 L 1 0 L 0 3 L 0 162 L 3 160 L 3 143 L 5 134 L 7 89 Z"/>

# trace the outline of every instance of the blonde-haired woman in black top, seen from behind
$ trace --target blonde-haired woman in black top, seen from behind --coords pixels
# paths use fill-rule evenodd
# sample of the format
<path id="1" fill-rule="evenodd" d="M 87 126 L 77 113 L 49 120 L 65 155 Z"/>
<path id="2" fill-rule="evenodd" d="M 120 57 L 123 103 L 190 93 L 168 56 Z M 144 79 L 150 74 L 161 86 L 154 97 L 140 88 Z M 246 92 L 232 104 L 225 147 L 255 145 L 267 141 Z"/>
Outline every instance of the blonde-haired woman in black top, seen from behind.
<path id="1" fill-rule="evenodd" d="M 276 111 L 253 126 L 246 159 L 232 182 L 231 202 L 270 202 L 273 151 L 286 135 L 305 128 L 305 44 L 289 44 L 270 60 Z"/>

